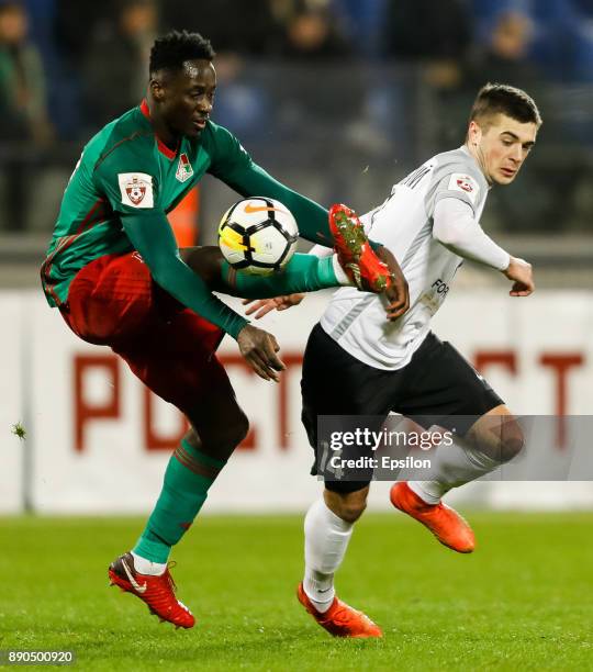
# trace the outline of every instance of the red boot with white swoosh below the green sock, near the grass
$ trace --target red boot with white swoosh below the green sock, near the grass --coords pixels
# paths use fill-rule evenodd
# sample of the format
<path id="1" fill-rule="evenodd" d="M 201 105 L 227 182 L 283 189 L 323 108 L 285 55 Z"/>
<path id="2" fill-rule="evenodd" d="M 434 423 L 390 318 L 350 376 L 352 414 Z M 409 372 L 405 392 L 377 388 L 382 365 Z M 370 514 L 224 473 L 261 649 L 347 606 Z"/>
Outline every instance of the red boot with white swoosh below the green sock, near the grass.
<path id="1" fill-rule="evenodd" d="M 169 568 L 160 576 L 138 574 L 132 553 L 124 553 L 109 565 L 109 578 L 111 585 L 119 585 L 122 591 L 145 602 L 148 611 L 161 621 L 168 620 L 178 628 L 193 627 L 193 614 L 175 596 L 177 586 Z"/>

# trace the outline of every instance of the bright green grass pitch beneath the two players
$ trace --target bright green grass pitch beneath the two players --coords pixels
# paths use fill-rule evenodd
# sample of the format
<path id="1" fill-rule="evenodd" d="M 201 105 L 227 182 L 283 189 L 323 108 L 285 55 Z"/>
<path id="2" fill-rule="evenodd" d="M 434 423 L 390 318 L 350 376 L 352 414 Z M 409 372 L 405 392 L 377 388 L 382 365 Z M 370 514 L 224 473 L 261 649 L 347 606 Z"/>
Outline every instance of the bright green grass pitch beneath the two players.
<path id="1" fill-rule="evenodd" d="M 593 514 L 469 515 L 457 555 L 401 514 L 367 514 L 338 594 L 384 630 L 336 640 L 294 597 L 299 516 L 203 516 L 175 552 L 192 630 L 109 589 L 130 518 L 0 518 L 0 649 L 76 651 L 82 670 L 593 670 Z"/>

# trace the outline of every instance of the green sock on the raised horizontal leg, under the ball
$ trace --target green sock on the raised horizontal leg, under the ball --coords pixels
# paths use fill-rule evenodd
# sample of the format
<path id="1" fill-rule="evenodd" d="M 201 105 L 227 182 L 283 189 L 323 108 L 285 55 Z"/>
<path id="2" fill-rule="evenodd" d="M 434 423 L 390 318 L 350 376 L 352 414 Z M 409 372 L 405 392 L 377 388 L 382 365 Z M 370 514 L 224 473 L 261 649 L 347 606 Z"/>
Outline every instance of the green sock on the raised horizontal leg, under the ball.
<path id="1" fill-rule="evenodd" d="M 222 262 L 225 293 L 244 299 L 269 299 L 298 292 L 314 292 L 339 287 L 333 257 L 320 259 L 314 255 L 294 255 L 284 268 L 269 276 L 251 276 Z"/>

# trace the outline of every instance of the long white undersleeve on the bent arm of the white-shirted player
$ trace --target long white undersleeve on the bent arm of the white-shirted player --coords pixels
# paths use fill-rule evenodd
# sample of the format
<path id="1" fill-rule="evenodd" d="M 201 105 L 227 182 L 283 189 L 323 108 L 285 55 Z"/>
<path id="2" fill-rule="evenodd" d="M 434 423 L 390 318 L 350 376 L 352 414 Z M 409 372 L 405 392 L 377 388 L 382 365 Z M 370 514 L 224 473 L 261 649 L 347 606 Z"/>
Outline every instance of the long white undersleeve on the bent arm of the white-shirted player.
<path id="1" fill-rule="evenodd" d="M 456 255 L 505 270 L 511 255 L 496 245 L 473 217 L 468 203 L 441 199 L 435 206 L 433 237 Z"/>

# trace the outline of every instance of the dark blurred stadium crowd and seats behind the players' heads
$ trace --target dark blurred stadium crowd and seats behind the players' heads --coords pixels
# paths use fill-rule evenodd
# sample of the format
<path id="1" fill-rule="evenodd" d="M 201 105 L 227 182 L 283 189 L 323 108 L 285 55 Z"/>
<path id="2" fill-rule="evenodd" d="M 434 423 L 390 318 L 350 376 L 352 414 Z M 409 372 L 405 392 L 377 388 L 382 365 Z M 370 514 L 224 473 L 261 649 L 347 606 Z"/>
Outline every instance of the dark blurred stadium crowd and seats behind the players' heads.
<path id="1" fill-rule="evenodd" d="M 142 99 L 150 45 L 169 29 L 212 41 L 213 117 L 259 163 L 359 209 L 461 143 L 482 83 L 525 88 L 542 141 L 493 199 L 492 225 L 590 226 L 593 0 L 0 0 L 0 232 L 51 228 L 55 199 L 30 212 L 31 177 L 49 176 L 42 201 L 59 197 L 82 143 Z M 307 183 L 316 166 L 323 190 Z M 373 179 L 354 183 L 369 167 Z"/>

